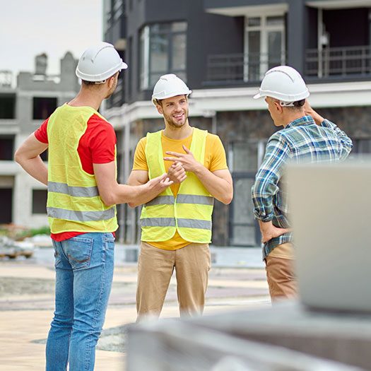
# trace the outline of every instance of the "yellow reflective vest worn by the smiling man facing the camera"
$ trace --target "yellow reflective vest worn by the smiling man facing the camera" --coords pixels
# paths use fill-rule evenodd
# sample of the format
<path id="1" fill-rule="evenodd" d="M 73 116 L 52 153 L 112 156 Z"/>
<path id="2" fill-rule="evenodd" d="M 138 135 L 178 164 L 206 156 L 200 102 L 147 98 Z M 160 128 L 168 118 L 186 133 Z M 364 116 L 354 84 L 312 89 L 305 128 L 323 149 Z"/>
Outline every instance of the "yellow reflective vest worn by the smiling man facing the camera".
<path id="1" fill-rule="evenodd" d="M 204 164 L 207 131 L 194 128 L 190 151 Z M 161 131 L 147 134 L 146 159 L 148 177 L 152 179 L 165 171 Z M 211 242 L 211 214 L 214 198 L 194 175 L 180 184 L 176 197 L 170 187 L 143 205 L 141 212 L 141 240 L 159 242 L 170 240 L 175 231 L 186 241 Z"/>

